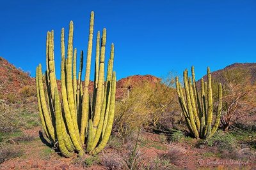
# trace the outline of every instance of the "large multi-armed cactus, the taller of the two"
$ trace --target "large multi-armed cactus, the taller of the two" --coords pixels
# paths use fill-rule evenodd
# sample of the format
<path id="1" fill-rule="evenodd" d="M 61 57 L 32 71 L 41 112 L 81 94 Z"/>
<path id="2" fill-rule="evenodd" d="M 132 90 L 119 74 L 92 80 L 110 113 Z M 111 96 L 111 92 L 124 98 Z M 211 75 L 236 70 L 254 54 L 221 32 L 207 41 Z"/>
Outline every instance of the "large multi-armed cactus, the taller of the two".
<path id="1" fill-rule="evenodd" d="M 36 67 L 36 89 L 42 127 L 49 140 L 60 148 L 62 155 L 71 157 L 74 152 L 95 155 L 106 146 L 113 125 L 115 112 L 116 74 L 113 71 L 114 45 L 108 60 L 108 73 L 104 81 L 106 29 L 101 45 L 97 32 L 95 76 L 93 94 L 89 93 L 92 58 L 94 13 L 90 17 L 86 75 L 84 85 L 83 51 L 77 77 L 77 50 L 73 52 L 73 22 L 69 25 L 67 57 L 64 29 L 61 30 L 61 96 L 59 94 L 54 64 L 54 32 L 47 32 L 45 74 L 42 66 Z M 84 145 L 86 150 L 84 151 Z"/>

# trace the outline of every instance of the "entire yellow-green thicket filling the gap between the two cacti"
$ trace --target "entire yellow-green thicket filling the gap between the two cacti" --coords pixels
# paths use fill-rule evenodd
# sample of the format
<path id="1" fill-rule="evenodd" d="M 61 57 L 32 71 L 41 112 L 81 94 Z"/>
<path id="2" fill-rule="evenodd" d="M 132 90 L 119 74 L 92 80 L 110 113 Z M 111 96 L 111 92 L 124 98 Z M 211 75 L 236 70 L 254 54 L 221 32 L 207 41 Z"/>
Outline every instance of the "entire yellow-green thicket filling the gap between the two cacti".
<path id="1" fill-rule="evenodd" d="M 140 127 L 156 128 L 159 122 L 170 119 L 173 110 L 179 110 L 173 80 L 136 85 L 129 92 L 129 97 L 116 102 L 114 129 L 120 136 L 125 138 Z"/>

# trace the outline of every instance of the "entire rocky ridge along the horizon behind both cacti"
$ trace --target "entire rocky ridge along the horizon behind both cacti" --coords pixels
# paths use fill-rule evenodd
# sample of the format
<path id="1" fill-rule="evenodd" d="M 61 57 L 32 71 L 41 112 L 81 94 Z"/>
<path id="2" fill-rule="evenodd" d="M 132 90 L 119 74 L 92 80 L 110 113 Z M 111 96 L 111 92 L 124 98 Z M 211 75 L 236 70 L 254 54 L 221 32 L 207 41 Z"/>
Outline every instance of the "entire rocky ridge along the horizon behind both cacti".
<path id="1" fill-rule="evenodd" d="M 212 72 L 212 78 L 224 83 L 222 79 L 223 73 L 228 70 L 243 69 L 248 70 L 248 76 L 250 76 L 252 83 L 256 81 L 256 63 L 234 63 L 218 71 Z M 3 98 L 6 98 L 7 94 L 15 93 L 18 94 L 19 91 L 26 85 L 35 87 L 35 78 L 31 78 L 28 73 L 18 69 L 17 67 L 10 64 L 8 60 L 0 57 L 0 94 Z M 204 76 L 207 79 L 207 75 Z M 124 90 L 127 88 L 133 88 L 136 85 L 141 85 L 145 82 L 156 84 L 161 81 L 160 78 L 147 75 L 134 75 L 122 78 L 116 82 L 116 98 L 122 98 L 124 96 Z M 58 81 L 58 88 L 60 89 L 60 81 Z M 93 90 L 93 81 L 90 81 L 90 92 Z M 1 97 L 0 96 L 0 97 Z"/>

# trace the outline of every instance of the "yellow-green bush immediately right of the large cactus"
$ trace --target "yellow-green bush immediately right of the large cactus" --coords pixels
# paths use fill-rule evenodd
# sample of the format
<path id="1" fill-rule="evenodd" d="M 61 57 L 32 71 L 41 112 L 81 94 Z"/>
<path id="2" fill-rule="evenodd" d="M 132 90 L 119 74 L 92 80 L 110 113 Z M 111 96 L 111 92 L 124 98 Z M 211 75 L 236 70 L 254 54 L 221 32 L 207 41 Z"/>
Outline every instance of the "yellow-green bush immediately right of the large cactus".
<path id="1" fill-rule="evenodd" d="M 127 99 L 116 102 L 114 126 L 122 138 L 149 124 L 150 110 L 147 107 L 149 97 L 150 88 L 140 85 L 132 89 Z"/>

